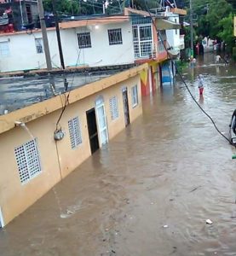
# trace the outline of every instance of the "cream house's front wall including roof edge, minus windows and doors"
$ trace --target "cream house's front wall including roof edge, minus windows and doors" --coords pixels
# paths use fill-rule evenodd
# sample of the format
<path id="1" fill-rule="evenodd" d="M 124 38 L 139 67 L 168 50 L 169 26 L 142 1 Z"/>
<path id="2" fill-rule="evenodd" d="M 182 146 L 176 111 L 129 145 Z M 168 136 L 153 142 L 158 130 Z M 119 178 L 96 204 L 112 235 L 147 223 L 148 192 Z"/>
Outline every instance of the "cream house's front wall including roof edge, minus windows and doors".
<path id="1" fill-rule="evenodd" d="M 146 67 L 146 65 L 144 66 Z M 103 98 L 109 140 L 125 128 L 123 100 L 124 87 L 127 87 L 128 92 L 130 122 L 141 115 L 141 82 L 140 75 L 138 74 L 138 70 L 141 70 L 141 67 L 135 67 L 132 70 L 134 71 L 133 73 L 126 71 L 110 77 L 111 84 L 109 84 L 109 78 L 106 78 L 103 79 L 106 81 L 103 82 L 103 84 L 101 81 L 98 81 L 93 84 L 85 85 L 82 88 L 78 88 L 76 92 L 72 91 L 72 103 L 67 106 L 66 111 L 60 119 L 60 127 L 62 131 L 65 131 L 65 137 L 57 143 L 55 143 L 54 140 L 54 132 L 61 113 L 61 108 L 51 112 L 48 111 L 48 113 L 46 111 L 42 116 L 38 114 L 36 117 L 36 115 L 34 115 L 34 118 L 28 118 L 28 121 L 26 117 L 25 119 L 22 117 L 20 119 L 20 113 L 26 114 L 27 111 L 30 113 L 30 109 L 37 108 L 37 104 L 34 104 L 20 109 L 15 113 L 9 113 L 1 117 L 2 122 L 10 123 L 14 118 L 17 120 L 18 116 L 20 120 L 26 120 L 26 127 L 29 130 L 29 132 L 27 132 L 22 126 L 17 126 L 11 129 L 8 124 L 2 124 L 0 127 L 2 132 L 0 133 L 0 222 L 2 223 L 2 226 L 8 224 L 9 221 L 19 215 L 20 212 L 25 211 L 27 207 L 30 207 L 37 201 L 37 199 L 51 189 L 55 183 L 60 182 L 61 178 L 66 177 L 66 175 L 72 172 L 91 155 L 86 111 L 95 108 L 95 101 L 98 98 Z M 123 76 L 123 81 L 115 83 L 120 76 Z M 134 104 L 135 85 L 137 85 L 137 102 Z M 86 86 L 87 90 L 85 90 Z M 97 86 L 101 86 L 102 89 L 98 90 Z M 83 97 L 83 93 L 87 93 L 88 96 Z M 76 100 L 77 96 L 80 96 L 81 98 L 78 101 Z M 116 119 L 112 119 L 111 116 L 110 99 L 114 96 L 118 103 L 118 114 L 116 115 Z M 53 107 L 50 106 L 50 102 L 53 105 L 52 102 L 54 101 L 55 98 L 52 98 L 48 101 L 40 102 L 38 105 L 42 109 L 53 109 Z M 63 99 L 61 99 L 61 102 L 63 103 Z M 101 131 L 96 108 L 95 113 L 101 147 Z M 32 115 L 28 115 L 28 117 L 30 116 Z M 68 121 L 77 117 L 79 120 L 82 143 L 77 147 L 72 148 L 72 139 Z M 36 139 L 41 171 L 22 183 L 22 180 L 20 181 L 19 168 L 22 166 L 24 167 L 24 158 L 22 158 L 23 160 L 21 160 L 19 164 L 19 160 L 18 162 L 16 160 L 15 149 L 18 148 L 17 150 L 21 150 L 19 149 L 21 145 L 25 145 L 26 147 L 26 143 L 32 143 L 34 138 Z M 24 150 L 29 150 L 29 152 L 25 152 Z M 32 157 L 36 156 L 36 153 L 31 153 L 30 150 L 32 150 L 32 148 L 29 149 L 26 147 L 24 150 L 22 154 L 29 154 Z M 30 160 L 27 161 L 29 162 Z M 37 166 L 37 162 L 32 161 L 32 170 L 34 166 Z"/>

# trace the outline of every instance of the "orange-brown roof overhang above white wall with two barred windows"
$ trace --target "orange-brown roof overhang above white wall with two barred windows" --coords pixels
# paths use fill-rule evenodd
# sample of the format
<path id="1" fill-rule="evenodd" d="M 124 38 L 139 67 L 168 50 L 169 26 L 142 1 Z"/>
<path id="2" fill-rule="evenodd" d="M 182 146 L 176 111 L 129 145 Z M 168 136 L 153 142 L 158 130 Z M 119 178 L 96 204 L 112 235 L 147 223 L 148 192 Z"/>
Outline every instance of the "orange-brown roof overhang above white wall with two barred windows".
<path id="1" fill-rule="evenodd" d="M 100 17 L 96 19 L 90 20 L 73 20 L 73 21 L 66 21 L 60 22 L 59 27 L 61 29 L 66 28 L 75 28 L 81 26 L 96 26 L 96 25 L 103 25 L 103 24 L 110 24 L 110 23 L 120 23 L 128 21 L 129 17 L 126 16 L 110 16 L 110 17 Z"/>

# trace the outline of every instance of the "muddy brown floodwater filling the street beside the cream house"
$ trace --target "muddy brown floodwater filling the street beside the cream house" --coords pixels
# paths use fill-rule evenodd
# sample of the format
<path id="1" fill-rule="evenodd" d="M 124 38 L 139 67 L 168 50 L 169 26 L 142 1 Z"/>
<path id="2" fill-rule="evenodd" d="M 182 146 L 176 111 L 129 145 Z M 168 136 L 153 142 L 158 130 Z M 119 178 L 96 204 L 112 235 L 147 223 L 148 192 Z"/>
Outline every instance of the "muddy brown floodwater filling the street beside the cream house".
<path id="1" fill-rule="evenodd" d="M 205 56 L 185 78 L 198 98 L 204 75 L 199 103 L 227 135 L 236 69 L 210 63 Z M 0 231 L 0 255 L 236 255 L 233 153 L 181 83 L 165 86 L 143 100 L 139 119 Z"/>

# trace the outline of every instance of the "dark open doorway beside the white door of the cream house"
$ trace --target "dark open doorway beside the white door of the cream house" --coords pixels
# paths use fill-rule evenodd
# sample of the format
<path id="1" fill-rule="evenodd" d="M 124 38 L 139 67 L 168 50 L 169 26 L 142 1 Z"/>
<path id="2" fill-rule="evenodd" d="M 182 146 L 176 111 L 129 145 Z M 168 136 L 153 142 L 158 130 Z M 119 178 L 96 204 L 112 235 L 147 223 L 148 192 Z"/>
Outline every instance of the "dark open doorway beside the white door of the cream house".
<path id="1" fill-rule="evenodd" d="M 94 154 L 95 151 L 99 148 L 95 108 L 91 108 L 88 111 L 86 111 L 86 116 L 89 131 L 89 143 L 91 154 Z"/>

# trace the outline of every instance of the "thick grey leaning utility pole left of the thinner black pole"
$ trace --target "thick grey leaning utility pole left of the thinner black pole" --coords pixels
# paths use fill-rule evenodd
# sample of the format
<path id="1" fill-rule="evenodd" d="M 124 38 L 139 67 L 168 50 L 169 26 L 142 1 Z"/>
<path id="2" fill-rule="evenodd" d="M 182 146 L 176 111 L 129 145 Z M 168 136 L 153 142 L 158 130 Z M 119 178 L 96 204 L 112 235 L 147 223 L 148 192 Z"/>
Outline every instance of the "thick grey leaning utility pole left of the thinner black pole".
<path id="1" fill-rule="evenodd" d="M 38 14 L 39 14 L 42 35 L 43 35 L 43 46 L 44 46 L 47 68 L 50 71 L 50 70 L 52 70 L 52 63 L 51 63 L 51 56 L 50 56 L 50 51 L 49 51 L 49 40 L 48 40 L 47 28 L 46 28 L 46 24 L 45 24 L 42 0 L 37 0 L 37 9 L 38 9 Z"/>

